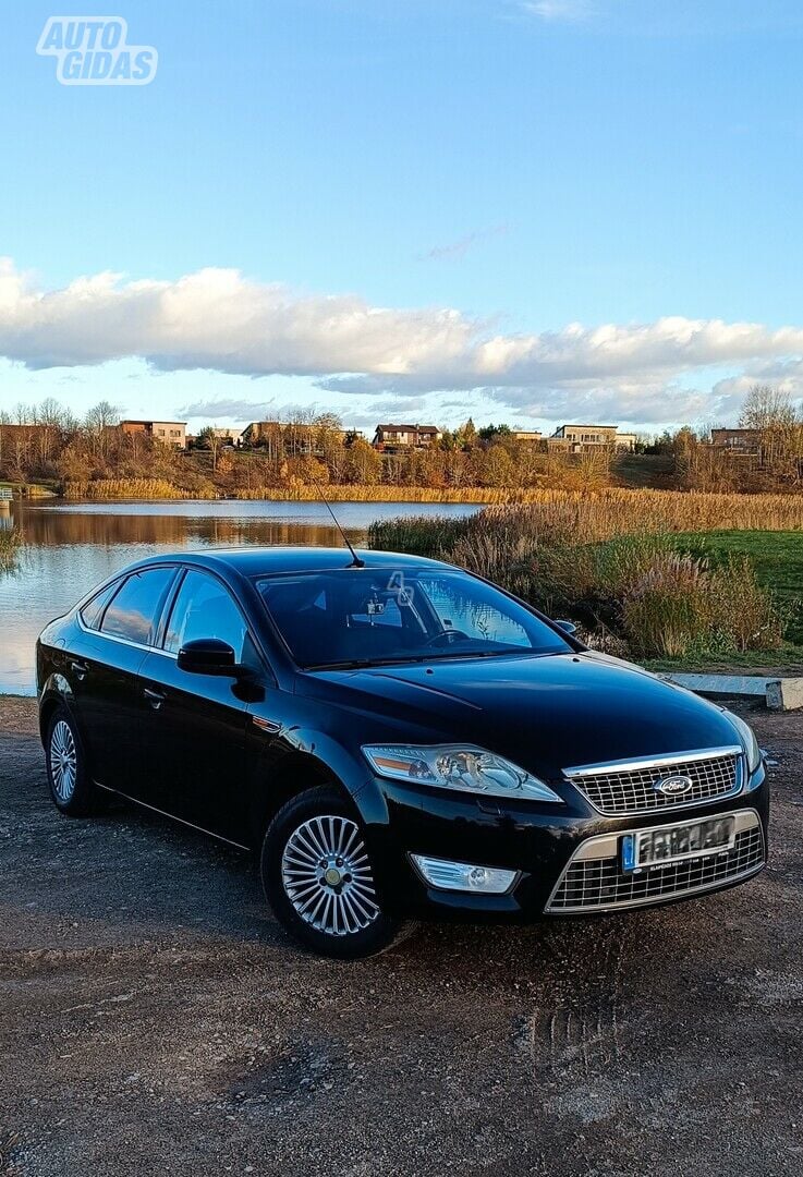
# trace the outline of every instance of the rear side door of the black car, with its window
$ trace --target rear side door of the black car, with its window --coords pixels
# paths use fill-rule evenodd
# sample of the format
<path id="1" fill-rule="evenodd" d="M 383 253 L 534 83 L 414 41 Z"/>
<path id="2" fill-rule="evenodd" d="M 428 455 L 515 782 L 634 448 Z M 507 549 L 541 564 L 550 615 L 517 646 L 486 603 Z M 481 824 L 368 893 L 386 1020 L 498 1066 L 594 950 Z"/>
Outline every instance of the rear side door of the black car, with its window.
<path id="1" fill-rule="evenodd" d="M 144 772 L 138 673 L 155 645 L 177 568 L 159 565 L 121 579 L 99 610 L 86 610 L 69 672 L 92 774 L 108 789 L 133 793 Z"/>

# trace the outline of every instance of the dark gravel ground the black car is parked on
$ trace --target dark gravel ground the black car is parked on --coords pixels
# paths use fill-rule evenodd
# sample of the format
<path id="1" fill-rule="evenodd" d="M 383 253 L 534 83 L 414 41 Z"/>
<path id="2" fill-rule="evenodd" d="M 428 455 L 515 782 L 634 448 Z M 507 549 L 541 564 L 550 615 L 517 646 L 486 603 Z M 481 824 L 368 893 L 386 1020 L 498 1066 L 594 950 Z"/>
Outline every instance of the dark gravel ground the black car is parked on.
<path id="1" fill-rule="evenodd" d="M 0 699 L 0 1173 L 803 1173 L 803 717 L 750 719 L 758 879 L 341 965 L 250 859 L 60 817 L 33 703 Z"/>

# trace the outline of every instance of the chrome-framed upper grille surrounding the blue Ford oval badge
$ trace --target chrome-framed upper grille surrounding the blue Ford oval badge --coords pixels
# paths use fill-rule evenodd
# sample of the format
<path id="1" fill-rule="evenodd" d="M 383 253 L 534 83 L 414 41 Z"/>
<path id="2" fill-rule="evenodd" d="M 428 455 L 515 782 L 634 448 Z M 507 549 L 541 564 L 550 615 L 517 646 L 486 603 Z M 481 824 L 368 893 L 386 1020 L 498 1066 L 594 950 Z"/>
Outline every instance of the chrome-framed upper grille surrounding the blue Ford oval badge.
<path id="1" fill-rule="evenodd" d="M 685 809 L 731 797 L 742 787 L 742 747 L 734 744 L 668 756 L 588 764 L 564 769 L 564 776 L 598 813 L 622 817 L 656 810 Z M 690 792 L 675 797 L 658 792 L 657 783 L 663 777 L 676 773 L 690 778 Z"/>

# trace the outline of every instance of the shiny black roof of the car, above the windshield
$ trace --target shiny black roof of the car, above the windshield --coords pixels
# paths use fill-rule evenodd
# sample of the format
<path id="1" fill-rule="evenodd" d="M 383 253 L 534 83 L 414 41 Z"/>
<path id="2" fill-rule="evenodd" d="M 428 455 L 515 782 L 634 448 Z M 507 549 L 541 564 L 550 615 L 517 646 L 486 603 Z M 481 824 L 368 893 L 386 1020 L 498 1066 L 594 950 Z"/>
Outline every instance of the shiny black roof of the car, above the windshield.
<path id="1" fill-rule="evenodd" d="M 443 560 L 402 552 L 377 552 L 358 548 L 357 554 L 366 568 L 432 567 L 447 568 Z M 170 552 L 138 560 L 131 567 L 153 564 L 193 564 L 210 568 L 231 568 L 244 577 L 268 576 L 276 572 L 325 572 L 345 568 L 351 553 L 345 547 L 207 547 L 199 552 Z"/>

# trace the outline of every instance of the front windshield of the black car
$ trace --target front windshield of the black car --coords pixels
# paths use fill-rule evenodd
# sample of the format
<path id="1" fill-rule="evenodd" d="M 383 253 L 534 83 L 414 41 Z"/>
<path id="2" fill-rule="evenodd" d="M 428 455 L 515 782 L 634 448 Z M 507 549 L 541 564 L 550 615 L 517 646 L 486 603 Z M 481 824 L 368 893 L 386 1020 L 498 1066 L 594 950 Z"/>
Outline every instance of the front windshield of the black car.
<path id="1" fill-rule="evenodd" d="M 259 577 L 256 584 L 306 669 L 572 649 L 524 606 L 459 571 L 337 568 Z"/>

